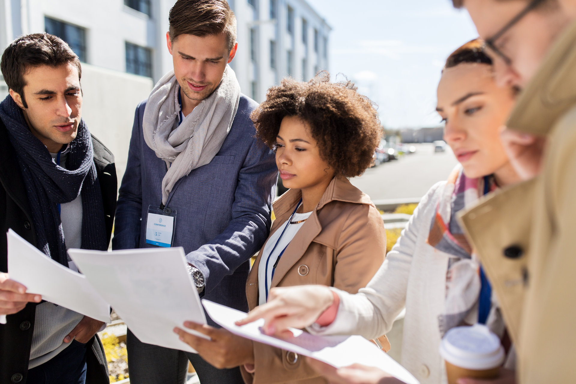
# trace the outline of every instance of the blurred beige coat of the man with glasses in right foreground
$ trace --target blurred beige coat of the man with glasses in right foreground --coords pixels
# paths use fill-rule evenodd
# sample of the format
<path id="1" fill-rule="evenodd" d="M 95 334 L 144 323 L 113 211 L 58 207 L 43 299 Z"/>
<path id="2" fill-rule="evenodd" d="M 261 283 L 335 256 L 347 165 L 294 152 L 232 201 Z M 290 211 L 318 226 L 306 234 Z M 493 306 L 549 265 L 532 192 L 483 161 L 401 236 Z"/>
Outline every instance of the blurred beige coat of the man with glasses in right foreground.
<path id="1" fill-rule="evenodd" d="M 509 128 L 547 135 L 540 176 L 461 217 L 516 343 L 522 384 L 576 382 L 576 23 L 522 93 Z"/>

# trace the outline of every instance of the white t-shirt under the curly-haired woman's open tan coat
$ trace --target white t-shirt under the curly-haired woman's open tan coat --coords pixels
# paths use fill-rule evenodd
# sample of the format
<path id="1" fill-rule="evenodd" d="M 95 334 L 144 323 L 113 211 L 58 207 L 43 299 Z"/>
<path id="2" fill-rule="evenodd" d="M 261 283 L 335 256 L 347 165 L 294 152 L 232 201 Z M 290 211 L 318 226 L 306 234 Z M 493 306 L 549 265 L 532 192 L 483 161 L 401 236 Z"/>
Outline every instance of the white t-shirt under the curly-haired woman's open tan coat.
<path id="1" fill-rule="evenodd" d="M 288 244 L 290 244 L 290 241 L 292 241 L 296 233 L 298 233 L 298 230 L 305 223 L 301 222 L 298 224 L 290 224 L 290 222 L 294 223 L 308 219 L 310 214 L 312 214 L 312 212 L 294 214 L 293 218 L 286 220 L 286 222 L 283 223 L 282 226 L 274 232 L 274 234 L 272 234 L 270 239 L 268 239 L 268 242 L 264 247 L 264 252 L 262 253 L 262 259 L 260 259 L 260 264 L 258 266 L 259 305 L 266 303 L 266 298 L 268 296 L 268 292 L 270 291 L 270 284 L 272 283 L 272 271 L 274 270 L 274 264 L 278 260 L 278 257 L 282 251 L 286 249 Z M 284 234 L 282 234 L 282 232 Z M 281 235 L 282 238 L 280 238 Z M 276 243 L 278 243 L 278 245 L 276 245 Z M 274 248 L 275 245 L 276 248 Z M 270 254 L 272 249 L 274 249 L 274 253 Z"/>

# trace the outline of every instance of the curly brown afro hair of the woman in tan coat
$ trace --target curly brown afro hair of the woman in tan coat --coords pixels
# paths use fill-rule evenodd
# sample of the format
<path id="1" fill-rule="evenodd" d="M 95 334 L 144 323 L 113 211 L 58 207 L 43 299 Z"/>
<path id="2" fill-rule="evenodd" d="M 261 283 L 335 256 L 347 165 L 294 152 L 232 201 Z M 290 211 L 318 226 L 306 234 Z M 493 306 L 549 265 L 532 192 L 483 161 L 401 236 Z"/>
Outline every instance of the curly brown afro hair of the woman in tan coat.
<path id="1" fill-rule="evenodd" d="M 256 136 L 275 149 L 280 123 L 297 116 L 310 126 L 320 156 L 336 174 L 360 176 L 373 164 L 382 127 L 374 104 L 350 81 L 331 83 L 323 72 L 309 82 L 282 80 L 268 89 L 266 101 L 250 116 Z"/>

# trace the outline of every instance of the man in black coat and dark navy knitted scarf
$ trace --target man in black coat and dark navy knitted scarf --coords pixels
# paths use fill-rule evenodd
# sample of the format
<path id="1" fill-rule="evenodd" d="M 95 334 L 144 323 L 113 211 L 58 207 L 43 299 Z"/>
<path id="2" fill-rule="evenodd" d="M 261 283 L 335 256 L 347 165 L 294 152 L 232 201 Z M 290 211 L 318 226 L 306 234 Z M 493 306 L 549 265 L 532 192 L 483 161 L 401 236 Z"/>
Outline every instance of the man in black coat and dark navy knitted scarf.
<path id="1" fill-rule="evenodd" d="M 14 40 L 0 64 L 1 232 L 78 271 L 69 248 L 108 249 L 116 208 L 113 155 L 81 119 L 78 56 L 56 36 Z M 0 384 L 108 383 L 96 332 L 105 324 L 42 301 L 9 279 L 0 236 Z"/>

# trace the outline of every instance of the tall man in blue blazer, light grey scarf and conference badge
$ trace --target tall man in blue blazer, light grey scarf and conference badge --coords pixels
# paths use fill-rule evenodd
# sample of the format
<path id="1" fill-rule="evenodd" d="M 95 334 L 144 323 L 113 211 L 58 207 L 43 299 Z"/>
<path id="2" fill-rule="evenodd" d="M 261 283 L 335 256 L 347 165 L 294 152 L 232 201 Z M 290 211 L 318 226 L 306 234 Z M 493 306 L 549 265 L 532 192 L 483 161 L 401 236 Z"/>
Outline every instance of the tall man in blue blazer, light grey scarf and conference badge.
<path id="1" fill-rule="evenodd" d="M 182 246 L 200 295 L 247 311 L 249 258 L 270 230 L 274 153 L 255 138 L 257 104 L 227 65 L 237 50 L 228 3 L 179 0 L 169 24 L 174 70 L 136 109 L 112 246 Z M 243 383 L 238 368 L 142 343 L 130 330 L 127 347 L 133 384 L 183 384 L 188 359 L 202 384 Z"/>

